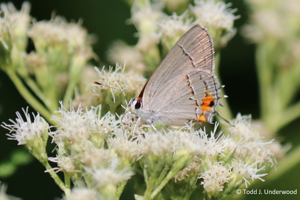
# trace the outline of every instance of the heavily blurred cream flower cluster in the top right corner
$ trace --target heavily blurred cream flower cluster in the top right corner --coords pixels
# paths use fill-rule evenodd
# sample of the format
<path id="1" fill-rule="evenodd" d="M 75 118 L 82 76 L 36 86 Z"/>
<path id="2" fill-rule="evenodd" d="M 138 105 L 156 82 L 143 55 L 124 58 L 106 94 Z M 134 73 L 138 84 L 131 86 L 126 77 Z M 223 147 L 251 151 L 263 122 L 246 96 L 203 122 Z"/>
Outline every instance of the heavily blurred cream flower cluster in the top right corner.
<path id="1" fill-rule="evenodd" d="M 243 34 L 254 42 L 266 39 L 296 39 L 299 27 L 300 6 L 297 0 L 287 1 L 245 1 L 252 13 L 249 24 L 244 26 Z M 297 37 L 298 38 L 298 37 Z"/>

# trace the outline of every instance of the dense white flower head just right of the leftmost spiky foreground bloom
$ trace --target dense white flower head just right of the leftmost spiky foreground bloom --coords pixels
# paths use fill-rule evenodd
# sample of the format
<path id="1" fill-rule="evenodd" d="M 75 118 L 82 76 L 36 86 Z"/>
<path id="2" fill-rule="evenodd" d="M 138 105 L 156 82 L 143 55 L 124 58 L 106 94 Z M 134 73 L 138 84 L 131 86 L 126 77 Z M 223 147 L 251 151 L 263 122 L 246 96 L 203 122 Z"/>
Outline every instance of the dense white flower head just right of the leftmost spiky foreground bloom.
<path id="1" fill-rule="evenodd" d="M 60 102 L 61 103 L 61 102 Z M 115 117 L 109 112 L 101 117 L 100 106 L 86 109 L 85 112 L 79 105 L 75 110 L 73 107 L 68 110 L 62 103 L 57 113 L 61 116 L 52 115 L 52 120 L 59 124 L 56 131 L 49 133 L 55 143 L 64 141 L 69 145 L 82 145 L 94 142 L 96 146 L 102 146 L 104 139 L 110 135 L 113 129 L 116 129 Z"/>

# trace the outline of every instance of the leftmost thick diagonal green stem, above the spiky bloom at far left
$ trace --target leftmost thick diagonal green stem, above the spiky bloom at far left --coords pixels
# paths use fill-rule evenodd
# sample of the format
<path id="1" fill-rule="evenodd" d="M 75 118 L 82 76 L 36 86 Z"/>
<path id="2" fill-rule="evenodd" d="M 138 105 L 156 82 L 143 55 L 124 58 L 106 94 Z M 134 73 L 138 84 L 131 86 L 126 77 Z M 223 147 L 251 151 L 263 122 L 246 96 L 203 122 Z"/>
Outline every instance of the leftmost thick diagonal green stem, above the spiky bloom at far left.
<path id="1" fill-rule="evenodd" d="M 16 86 L 19 93 L 24 97 L 24 99 L 36 110 L 38 111 L 43 117 L 49 121 L 51 114 L 50 112 L 37 100 L 32 94 L 28 91 L 28 89 L 23 85 L 22 81 L 19 77 L 14 73 L 11 69 L 6 70 L 7 75 L 12 80 L 13 84 Z"/>

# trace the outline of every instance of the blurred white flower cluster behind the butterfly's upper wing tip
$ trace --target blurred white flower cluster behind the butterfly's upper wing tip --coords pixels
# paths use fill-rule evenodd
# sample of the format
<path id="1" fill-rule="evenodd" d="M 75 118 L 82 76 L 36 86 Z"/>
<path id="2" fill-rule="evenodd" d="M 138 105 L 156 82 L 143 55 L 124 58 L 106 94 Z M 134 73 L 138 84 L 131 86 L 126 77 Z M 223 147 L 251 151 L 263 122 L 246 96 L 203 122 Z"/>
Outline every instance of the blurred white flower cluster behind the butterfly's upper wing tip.
<path id="1" fill-rule="evenodd" d="M 159 42 L 163 46 L 162 54 L 165 55 L 196 24 L 208 28 L 216 49 L 225 46 L 235 34 L 233 23 L 239 18 L 234 15 L 236 9 L 229 8 L 230 3 L 215 0 L 195 0 L 193 4 L 188 6 L 185 0 L 135 1 L 129 21 L 137 28 L 138 43 L 135 46 L 123 42 L 113 43 L 107 53 L 108 59 L 119 63 L 126 61 L 128 69 L 138 69 L 139 73 L 147 72 L 149 68 L 153 71 L 161 62 Z M 184 10 L 168 15 L 164 13 L 164 7 L 177 10 L 180 7 Z"/>

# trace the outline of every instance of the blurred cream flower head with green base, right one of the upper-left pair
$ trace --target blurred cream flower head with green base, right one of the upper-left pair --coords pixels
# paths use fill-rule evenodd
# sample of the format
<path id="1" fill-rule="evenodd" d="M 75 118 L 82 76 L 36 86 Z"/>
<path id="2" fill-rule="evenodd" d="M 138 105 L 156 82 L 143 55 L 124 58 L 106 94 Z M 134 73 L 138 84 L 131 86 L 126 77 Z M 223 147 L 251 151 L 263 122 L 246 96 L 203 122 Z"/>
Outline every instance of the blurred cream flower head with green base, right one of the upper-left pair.
<path id="1" fill-rule="evenodd" d="M 94 56 L 92 39 L 79 23 L 68 23 L 56 16 L 50 21 L 33 23 L 28 31 L 35 52 L 46 58 L 52 73 L 69 72 L 69 81 L 76 84 L 86 62 Z M 60 59 L 57 59 L 59 55 Z"/>

